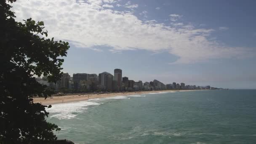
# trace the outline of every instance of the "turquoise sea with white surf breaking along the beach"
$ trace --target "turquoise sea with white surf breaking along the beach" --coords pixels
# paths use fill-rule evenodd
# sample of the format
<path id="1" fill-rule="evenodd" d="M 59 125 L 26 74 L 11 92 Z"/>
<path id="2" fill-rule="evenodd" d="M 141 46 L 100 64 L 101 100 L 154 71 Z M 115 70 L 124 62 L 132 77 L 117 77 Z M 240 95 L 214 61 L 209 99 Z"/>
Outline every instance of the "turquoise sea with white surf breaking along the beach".
<path id="1" fill-rule="evenodd" d="M 256 144 L 256 90 L 152 93 L 55 104 L 77 144 Z"/>

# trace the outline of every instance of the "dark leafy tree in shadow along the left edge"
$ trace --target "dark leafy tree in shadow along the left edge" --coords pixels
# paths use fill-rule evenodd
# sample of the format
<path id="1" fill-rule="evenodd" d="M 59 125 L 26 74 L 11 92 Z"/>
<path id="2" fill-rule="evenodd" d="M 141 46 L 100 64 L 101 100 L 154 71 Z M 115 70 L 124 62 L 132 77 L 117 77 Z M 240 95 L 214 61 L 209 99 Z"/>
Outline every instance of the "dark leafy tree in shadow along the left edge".
<path id="1" fill-rule="evenodd" d="M 33 103 L 30 96 L 51 96 L 52 91 L 33 75 L 48 76 L 49 82 L 56 83 L 69 43 L 46 39 L 43 21 L 15 21 L 10 10 L 15 1 L 0 1 L 0 143 L 55 141 L 53 131 L 60 128 L 45 120 L 47 106 Z"/>

